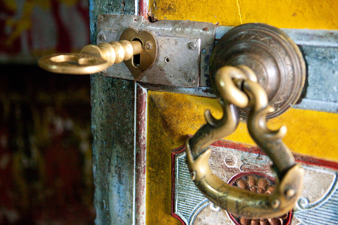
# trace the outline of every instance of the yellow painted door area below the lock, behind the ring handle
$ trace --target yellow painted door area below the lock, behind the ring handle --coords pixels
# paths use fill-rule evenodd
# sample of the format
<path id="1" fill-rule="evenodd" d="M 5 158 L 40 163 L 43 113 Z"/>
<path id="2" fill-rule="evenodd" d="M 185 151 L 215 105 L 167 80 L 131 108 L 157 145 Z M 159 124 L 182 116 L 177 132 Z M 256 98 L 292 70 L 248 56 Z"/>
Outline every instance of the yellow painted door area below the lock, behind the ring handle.
<path id="1" fill-rule="evenodd" d="M 147 223 L 180 224 L 170 215 L 170 152 L 205 123 L 206 109 L 222 116 L 216 99 L 148 91 Z M 290 109 L 269 121 L 272 128 L 281 124 L 288 127 L 283 141 L 292 151 L 338 161 L 338 114 Z M 255 145 L 243 122 L 226 139 Z"/>

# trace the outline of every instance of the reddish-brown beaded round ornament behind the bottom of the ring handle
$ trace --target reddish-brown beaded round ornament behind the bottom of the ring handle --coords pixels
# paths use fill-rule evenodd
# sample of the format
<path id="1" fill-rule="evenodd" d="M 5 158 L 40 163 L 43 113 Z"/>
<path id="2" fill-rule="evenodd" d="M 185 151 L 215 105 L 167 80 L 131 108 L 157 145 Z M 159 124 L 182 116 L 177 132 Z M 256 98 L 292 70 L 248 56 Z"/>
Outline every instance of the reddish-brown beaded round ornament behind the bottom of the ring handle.
<path id="1" fill-rule="evenodd" d="M 240 189 L 246 189 L 256 193 L 271 194 L 275 189 L 274 181 L 270 177 L 259 173 L 242 173 L 235 176 L 229 183 L 236 185 Z M 278 218 L 261 220 L 235 217 L 231 214 L 230 218 L 237 225 L 288 225 L 291 221 L 291 212 Z"/>

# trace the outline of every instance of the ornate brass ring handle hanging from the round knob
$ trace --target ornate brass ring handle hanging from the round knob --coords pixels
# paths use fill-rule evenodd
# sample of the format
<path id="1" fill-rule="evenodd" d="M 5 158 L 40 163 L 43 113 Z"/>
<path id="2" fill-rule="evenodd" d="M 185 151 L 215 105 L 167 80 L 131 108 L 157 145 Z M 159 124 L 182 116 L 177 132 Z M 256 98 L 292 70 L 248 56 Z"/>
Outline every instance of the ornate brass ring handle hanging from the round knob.
<path id="1" fill-rule="evenodd" d="M 214 204 L 231 214 L 252 219 L 279 217 L 290 211 L 296 202 L 301 192 L 304 169 L 295 164 L 290 150 L 282 141 L 286 127 L 282 126 L 277 131 L 266 127 L 266 115 L 272 108 L 268 106 L 264 89 L 248 78 L 238 79 L 247 77 L 248 71 L 251 73 L 249 68 L 239 68 L 229 66 L 220 68 L 215 77 L 216 86 L 224 90 L 226 85 L 235 84 L 238 91 L 244 91 L 249 97 L 248 105 L 251 109 L 248 130 L 254 141 L 273 161 L 273 168 L 277 174 L 274 192 L 268 195 L 239 189 L 221 181 L 209 167 L 211 154 L 209 145 L 232 133 L 237 127 L 238 111 L 233 102 L 227 100 L 236 96 L 224 98 L 225 95 L 221 95 L 224 114 L 220 120 L 216 120 L 210 111 L 206 111 L 207 124 L 186 141 L 188 168 L 197 188 Z M 235 73 L 239 74 L 234 75 Z M 225 82 L 229 79 L 231 84 Z M 246 106 L 244 101 L 241 102 L 242 107 Z"/>

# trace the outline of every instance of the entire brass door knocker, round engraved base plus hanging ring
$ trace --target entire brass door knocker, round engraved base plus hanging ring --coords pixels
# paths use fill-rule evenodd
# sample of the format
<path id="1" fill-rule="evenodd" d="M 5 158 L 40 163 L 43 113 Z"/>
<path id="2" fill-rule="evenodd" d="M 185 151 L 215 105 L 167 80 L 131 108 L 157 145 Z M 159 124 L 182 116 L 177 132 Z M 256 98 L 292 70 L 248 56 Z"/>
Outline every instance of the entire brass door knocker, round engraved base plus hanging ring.
<path id="1" fill-rule="evenodd" d="M 217 120 L 207 110 L 207 124 L 186 141 L 191 179 L 204 196 L 233 215 L 252 219 L 283 216 L 301 192 L 304 169 L 282 141 L 286 127 L 270 130 L 266 119 L 291 107 L 303 89 L 305 62 L 298 47 L 278 28 L 241 25 L 217 43 L 210 76 L 223 117 Z M 276 105 L 279 108 L 273 107 Z M 236 129 L 240 113 L 247 119 L 251 138 L 273 162 L 277 182 L 271 195 L 226 184 L 209 167 L 209 146 Z"/>

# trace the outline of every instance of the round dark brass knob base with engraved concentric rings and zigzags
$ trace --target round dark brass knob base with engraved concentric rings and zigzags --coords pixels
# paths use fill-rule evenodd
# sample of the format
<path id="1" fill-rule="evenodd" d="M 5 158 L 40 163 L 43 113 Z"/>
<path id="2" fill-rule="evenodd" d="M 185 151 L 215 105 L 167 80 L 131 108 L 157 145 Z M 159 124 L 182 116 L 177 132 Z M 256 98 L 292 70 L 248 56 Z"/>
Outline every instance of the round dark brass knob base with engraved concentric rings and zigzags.
<path id="1" fill-rule="evenodd" d="M 235 27 L 217 42 L 210 58 L 213 86 L 216 71 L 223 66 L 249 67 L 275 110 L 267 118 L 278 116 L 298 100 L 305 83 L 305 61 L 298 46 L 282 30 L 262 23 Z M 217 89 L 215 89 L 217 91 Z M 249 108 L 239 109 L 247 118 Z"/>

